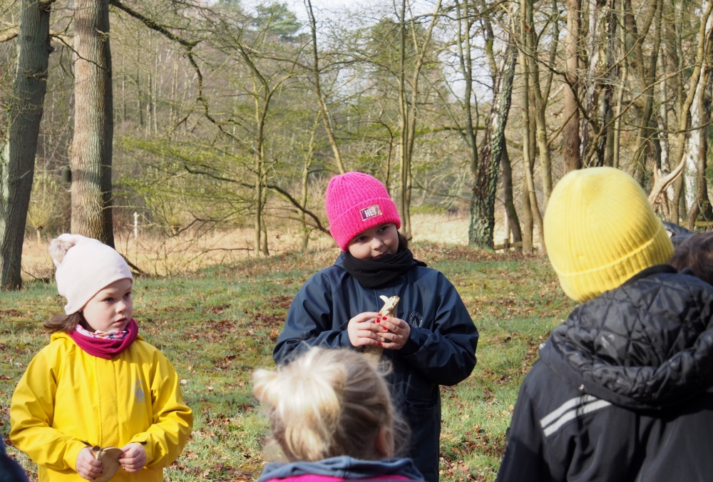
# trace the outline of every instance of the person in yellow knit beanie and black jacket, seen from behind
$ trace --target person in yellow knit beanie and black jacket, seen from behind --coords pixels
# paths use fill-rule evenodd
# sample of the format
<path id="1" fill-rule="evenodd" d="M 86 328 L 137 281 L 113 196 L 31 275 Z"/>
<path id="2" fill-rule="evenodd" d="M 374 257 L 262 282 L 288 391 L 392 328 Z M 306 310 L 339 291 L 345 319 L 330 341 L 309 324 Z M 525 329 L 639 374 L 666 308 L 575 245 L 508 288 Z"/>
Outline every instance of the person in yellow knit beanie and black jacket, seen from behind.
<path id="1" fill-rule="evenodd" d="M 581 304 L 525 376 L 498 482 L 709 480 L 713 287 L 666 264 L 662 222 L 621 170 L 565 175 L 545 244 Z"/>

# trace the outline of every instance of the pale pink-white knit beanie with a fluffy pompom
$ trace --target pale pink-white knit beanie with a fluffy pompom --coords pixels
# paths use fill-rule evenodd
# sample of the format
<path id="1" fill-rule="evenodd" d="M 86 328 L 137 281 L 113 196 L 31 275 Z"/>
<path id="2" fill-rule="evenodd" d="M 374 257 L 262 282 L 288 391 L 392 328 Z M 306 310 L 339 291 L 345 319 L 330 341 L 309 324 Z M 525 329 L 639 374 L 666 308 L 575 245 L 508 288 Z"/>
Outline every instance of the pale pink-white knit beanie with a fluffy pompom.
<path id="1" fill-rule="evenodd" d="M 57 267 L 57 291 L 67 299 L 66 314 L 78 312 L 115 281 L 133 281 L 123 257 L 113 247 L 91 237 L 59 235 L 50 242 L 49 254 Z"/>

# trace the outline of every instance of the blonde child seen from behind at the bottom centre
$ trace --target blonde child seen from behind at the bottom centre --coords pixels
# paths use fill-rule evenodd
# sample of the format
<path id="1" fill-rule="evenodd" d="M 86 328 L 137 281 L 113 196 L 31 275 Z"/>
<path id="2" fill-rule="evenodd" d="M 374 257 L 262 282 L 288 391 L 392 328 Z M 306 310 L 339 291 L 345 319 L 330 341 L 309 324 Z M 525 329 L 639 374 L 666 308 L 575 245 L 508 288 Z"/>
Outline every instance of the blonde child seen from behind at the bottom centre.
<path id="1" fill-rule="evenodd" d="M 258 482 L 424 480 L 409 458 L 394 458 L 404 423 L 363 354 L 312 348 L 277 371 L 255 371 L 253 380 L 289 461 L 268 464 Z"/>

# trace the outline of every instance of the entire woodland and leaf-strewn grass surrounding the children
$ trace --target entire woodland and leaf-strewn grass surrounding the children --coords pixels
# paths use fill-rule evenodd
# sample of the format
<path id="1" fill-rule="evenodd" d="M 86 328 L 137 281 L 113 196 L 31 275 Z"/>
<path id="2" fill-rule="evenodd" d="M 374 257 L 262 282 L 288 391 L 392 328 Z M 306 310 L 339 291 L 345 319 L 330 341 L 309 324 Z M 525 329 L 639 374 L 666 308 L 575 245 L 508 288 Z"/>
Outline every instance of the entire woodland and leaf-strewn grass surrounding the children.
<path id="1" fill-rule="evenodd" d="M 337 254 L 329 178 L 360 170 L 477 321 L 476 371 L 442 390 L 441 469 L 493 480 L 572 306 L 533 256 L 557 180 L 620 168 L 662 219 L 709 227 L 713 1 L 312 1 L 0 0 L 3 436 L 61 309 L 46 245 L 71 230 L 169 275 L 135 285 L 197 414 L 168 479 L 255 478 L 250 370 Z"/>

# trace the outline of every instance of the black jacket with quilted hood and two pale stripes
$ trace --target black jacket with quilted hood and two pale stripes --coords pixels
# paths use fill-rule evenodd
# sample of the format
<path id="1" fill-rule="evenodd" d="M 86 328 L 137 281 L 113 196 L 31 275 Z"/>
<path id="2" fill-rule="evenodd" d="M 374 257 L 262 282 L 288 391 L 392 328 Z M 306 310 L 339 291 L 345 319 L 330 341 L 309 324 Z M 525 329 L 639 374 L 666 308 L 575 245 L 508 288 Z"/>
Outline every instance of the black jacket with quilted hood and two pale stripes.
<path id="1" fill-rule="evenodd" d="M 713 480 L 713 287 L 650 267 L 577 307 L 525 377 L 499 482 Z"/>

